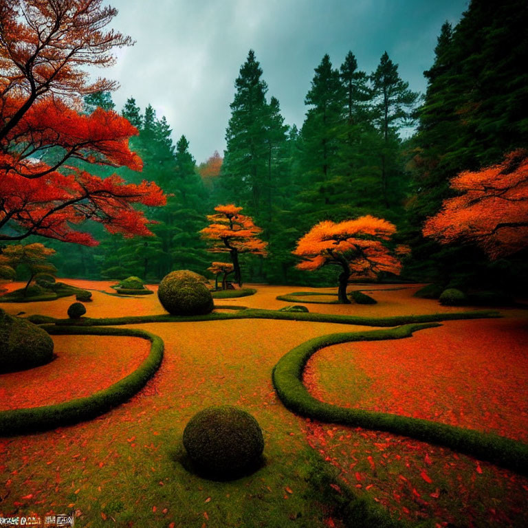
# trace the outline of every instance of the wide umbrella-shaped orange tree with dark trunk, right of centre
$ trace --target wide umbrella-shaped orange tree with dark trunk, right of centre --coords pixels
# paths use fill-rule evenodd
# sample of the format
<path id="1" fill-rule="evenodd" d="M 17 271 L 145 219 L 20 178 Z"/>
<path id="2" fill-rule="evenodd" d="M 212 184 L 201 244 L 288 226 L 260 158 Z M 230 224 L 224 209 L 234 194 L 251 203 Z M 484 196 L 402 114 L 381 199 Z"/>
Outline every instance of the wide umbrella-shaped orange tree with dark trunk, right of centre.
<path id="1" fill-rule="evenodd" d="M 401 263 L 396 255 L 409 252 L 399 245 L 388 247 L 396 227 L 384 219 L 366 215 L 355 220 L 322 221 L 314 225 L 298 242 L 292 252 L 303 261 L 299 270 L 318 270 L 326 265 L 341 268 L 338 298 L 350 304 L 347 284 L 351 278 L 375 278 L 380 272 L 399 274 Z"/>

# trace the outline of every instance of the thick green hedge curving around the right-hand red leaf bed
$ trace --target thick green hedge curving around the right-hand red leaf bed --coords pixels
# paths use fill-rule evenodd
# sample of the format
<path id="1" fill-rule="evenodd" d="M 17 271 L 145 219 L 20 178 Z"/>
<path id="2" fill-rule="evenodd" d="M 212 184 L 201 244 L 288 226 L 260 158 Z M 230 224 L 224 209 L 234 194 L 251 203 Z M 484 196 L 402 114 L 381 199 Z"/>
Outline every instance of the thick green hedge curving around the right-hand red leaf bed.
<path id="1" fill-rule="evenodd" d="M 478 459 L 508 467 L 520 474 L 528 474 L 526 443 L 500 437 L 498 434 L 448 426 L 424 419 L 327 404 L 312 397 L 303 385 L 303 371 L 307 361 L 322 348 L 346 342 L 409 338 L 415 331 L 439 326 L 441 325 L 435 323 L 404 325 L 393 329 L 333 333 L 311 339 L 289 351 L 274 366 L 274 388 L 285 407 L 298 415 L 329 423 L 402 434 L 444 445 Z"/>

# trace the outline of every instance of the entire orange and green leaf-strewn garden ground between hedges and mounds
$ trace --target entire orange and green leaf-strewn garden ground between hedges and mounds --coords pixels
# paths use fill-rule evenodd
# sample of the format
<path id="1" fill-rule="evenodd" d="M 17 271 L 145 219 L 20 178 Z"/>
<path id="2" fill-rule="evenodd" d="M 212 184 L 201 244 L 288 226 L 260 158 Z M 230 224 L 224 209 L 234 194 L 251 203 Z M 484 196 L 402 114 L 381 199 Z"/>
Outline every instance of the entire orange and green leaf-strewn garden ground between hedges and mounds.
<path id="1" fill-rule="evenodd" d="M 87 305 L 91 318 L 164 313 L 155 295 L 105 294 L 113 291 L 113 281 L 67 282 L 93 292 Z M 277 296 L 300 291 L 252 287 L 256 294 L 240 300 L 215 299 L 218 312 L 233 313 L 221 307 L 238 303 L 279 309 L 292 303 Z M 360 286 L 377 305 L 307 307 L 311 314 L 364 318 L 468 310 L 412 297 L 418 288 Z M 65 318 L 71 303 L 63 298 L 12 303 L 5 309 Z M 340 406 L 380 408 L 526 440 L 527 316 L 518 309 L 500 314 L 501 319 L 443 322 L 399 341 L 322 349 L 308 365 L 305 384 L 312 395 Z M 272 369 L 283 356 L 313 338 L 376 327 L 250 318 L 121 328 L 162 338 L 161 367 L 139 393 L 96 419 L 0 439 L 4 515 L 75 511 L 78 524 L 90 527 L 344 527 L 347 518 L 367 518 L 351 513 L 354 505 L 369 512 L 364 526 L 372 527 L 391 525 L 385 516 L 377 517 L 377 506 L 390 512 L 394 522 L 414 526 L 525 526 L 528 479 L 516 472 L 388 432 L 311 421 L 283 406 L 272 385 Z M 52 363 L 0 376 L 0 410 L 58 403 L 104 389 L 148 353 L 148 343 L 132 337 L 53 338 L 58 358 Z M 16 393 L 17 388 L 23 390 Z M 187 421 L 218 404 L 251 412 L 265 437 L 265 466 L 231 483 L 203 480 L 179 462 Z"/>

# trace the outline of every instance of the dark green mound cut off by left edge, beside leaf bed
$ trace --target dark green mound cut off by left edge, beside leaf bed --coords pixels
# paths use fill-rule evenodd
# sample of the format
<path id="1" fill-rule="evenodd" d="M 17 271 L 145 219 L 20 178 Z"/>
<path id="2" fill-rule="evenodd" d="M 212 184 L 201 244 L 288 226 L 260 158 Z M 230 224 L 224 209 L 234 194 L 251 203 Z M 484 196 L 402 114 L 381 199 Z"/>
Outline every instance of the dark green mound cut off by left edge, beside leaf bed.
<path id="1" fill-rule="evenodd" d="M 0 309 L 0 373 L 32 369 L 52 359 L 53 341 L 47 332 Z"/>

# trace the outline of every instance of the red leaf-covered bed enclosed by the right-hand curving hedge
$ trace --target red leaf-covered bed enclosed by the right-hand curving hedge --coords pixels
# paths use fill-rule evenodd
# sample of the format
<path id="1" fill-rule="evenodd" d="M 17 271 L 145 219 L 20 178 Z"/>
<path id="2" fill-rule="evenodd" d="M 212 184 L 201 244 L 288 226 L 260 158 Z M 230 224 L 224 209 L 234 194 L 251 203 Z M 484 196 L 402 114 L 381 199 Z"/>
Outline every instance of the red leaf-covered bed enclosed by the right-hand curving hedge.
<path id="1" fill-rule="evenodd" d="M 525 319 L 448 321 L 410 339 L 327 347 L 305 384 L 322 401 L 528 442 Z"/>

